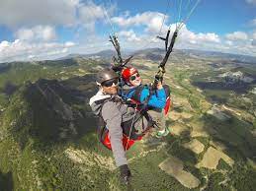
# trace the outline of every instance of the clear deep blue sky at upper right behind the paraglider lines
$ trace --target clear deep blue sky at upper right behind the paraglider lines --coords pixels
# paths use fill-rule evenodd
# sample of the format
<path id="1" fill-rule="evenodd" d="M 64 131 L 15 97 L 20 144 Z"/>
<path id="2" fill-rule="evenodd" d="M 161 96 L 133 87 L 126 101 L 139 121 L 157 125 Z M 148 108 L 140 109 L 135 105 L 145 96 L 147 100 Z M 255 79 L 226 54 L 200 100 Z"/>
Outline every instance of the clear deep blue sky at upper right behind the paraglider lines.
<path id="1" fill-rule="evenodd" d="M 167 0 L 121 0 L 118 1 L 120 12 L 130 11 L 131 15 L 146 11 L 165 13 Z M 177 12 L 181 1 L 170 1 L 168 14 Z M 190 1 L 188 8 L 195 5 L 195 0 Z M 188 0 L 183 0 L 183 8 L 187 7 Z M 188 10 L 182 13 L 186 14 Z M 177 15 L 177 13 L 175 13 Z M 238 17 L 239 16 L 239 17 Z M 195 28 L 196 32 L 233 32 L 244 30 L 246 23 L 256 17 L 256 7 L 244 0 L 202 0 L 188 22 L 188 26 Z M 170 22 L 175 22 L 171 20 Z"/>

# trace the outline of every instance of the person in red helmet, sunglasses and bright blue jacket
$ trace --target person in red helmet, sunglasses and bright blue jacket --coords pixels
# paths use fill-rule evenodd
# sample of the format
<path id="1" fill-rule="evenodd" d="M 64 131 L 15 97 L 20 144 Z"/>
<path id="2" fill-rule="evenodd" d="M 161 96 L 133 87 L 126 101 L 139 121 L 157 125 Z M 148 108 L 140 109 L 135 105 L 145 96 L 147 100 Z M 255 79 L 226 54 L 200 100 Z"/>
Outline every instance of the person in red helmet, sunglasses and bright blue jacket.
<path id="1" fill-rule="evenodd" d="M 142 80 L 137 69 L 133 67 L 125 68 L 122 71 L 122 79 L 125 86 L 120 93 L 121 96 L 131 98 L 138 101 L 148 109 L 148 113 L 158 126 L 157 137 L 167 136 L 169 129 L 166 127 L 166 119 L 164 116 L 164 107 L 166 105 L 166 98 L 170 96 L 170 89 L 167 85 L 162 85 L 159 81 L 157 90 L 150 93 L 147 85 L 142 85 Z"/>

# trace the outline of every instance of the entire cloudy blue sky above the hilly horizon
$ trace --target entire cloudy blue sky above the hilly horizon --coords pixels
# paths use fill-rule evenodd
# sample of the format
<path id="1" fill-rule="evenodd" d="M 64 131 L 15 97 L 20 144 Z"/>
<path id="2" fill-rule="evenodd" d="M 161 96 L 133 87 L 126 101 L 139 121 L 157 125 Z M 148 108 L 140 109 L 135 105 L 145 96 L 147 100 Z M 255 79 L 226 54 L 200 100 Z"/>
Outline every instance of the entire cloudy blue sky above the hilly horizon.
<path id="1" fill-rule="evenodd" d="M 179 28 L 182 27 L 182 28 Z M 256 56 L 256 0 L 1 0 L 0 63 L 113 49 L 174 48 Z"/>

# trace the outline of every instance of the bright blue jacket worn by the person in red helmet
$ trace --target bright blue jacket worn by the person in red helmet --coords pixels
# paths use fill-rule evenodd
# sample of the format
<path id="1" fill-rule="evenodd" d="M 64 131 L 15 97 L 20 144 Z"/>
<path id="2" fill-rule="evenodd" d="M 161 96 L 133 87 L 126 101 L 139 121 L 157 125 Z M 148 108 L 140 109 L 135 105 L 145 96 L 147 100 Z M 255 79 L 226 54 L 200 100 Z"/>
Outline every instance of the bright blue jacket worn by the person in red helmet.
<path id="1" fill-rule="evenodd" d="M 143 86 L 143 88 L 141 87 Z M 145 85 L 140 85 L 138 87 L 125 89 L 125 91 L 122 92 L 122 96 L 125 96 L 126 98 L 131 98 L 134 96 L 136 89 L 142 88 L 139 102 L 143 103 L 145 99 L 149 96 L 149 88 Z M 164 89 L 156 90 L 153 95 L 149 97 L 149 100 L 147 102 L 148 106 L 154 107 L 154 108 L 164 108 L 166 104 L 166 95 Z"/>

